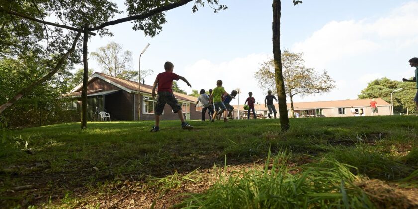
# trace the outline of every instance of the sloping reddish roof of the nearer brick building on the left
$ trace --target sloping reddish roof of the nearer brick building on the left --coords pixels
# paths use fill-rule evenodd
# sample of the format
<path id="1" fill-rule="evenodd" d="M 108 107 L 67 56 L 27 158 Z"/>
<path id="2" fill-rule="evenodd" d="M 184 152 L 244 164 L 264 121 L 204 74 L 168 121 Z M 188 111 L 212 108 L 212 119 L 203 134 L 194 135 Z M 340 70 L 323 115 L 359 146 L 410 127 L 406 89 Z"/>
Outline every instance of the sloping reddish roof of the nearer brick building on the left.
<path id="1" fill-rule="evenodd" d="M 109 82 L 110 84 L 113 84 L 127 92 L 130 93 L 138 93 L 138 82 L 135 81 L 130 81 L 127 79 L 122 79 L 122 78 L 117 78 L 114 76 L 109 76 L 106 75 L 104 73 L 99 73 L 99 72 L 95 72 L 90 78 L 89 81 L 92 80 L 93 78 L 99 78 L 102 79 L 106 82 Z M 73 92 L 76 93 L 78 91 L 81 90 L 83 84 L 79 84 L 77 87 L 75 87 L 73 89 Z M 148 93 L 151 94 L 152 92 L 152 86 L 147 85 L 147 84 L 140 84 L 141 85 L 141 93 Z M 97 92 L 97 91 L 96 91 Z M 190 95 L 185 95 L 185 94 L 181 94 L 178 92 L 173 92 L 174 95 L 176 96 L 177 99 L 179 100 L 185 100 L 185 101 L 191 101 L 191 102 L 196 102 L 197 98 L 190 96 Z"/>

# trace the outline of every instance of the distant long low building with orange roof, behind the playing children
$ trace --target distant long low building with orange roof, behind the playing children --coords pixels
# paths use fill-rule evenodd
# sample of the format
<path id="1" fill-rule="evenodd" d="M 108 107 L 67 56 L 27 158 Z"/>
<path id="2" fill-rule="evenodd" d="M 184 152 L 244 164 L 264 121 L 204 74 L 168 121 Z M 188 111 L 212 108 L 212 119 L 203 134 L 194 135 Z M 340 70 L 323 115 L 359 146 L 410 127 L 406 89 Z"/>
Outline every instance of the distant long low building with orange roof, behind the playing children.
<path id="1" fill-rule="evenodd" d="M 353 106 L 356 115 L 355 116 L 370 116 L 371 99 L 361 99 L 361 100 L 334 100 L 334 101 L 317 101 L 317 102 L 300 102 L 293 103 L 294 112 L 299 114 L 300 117 L 350 117 L 351 106 Z M 391 115 L 391 104 L 387 103 L 381 98 L 376 99 L 377 108 L 379 115 Z M 267 117 L 268 109 L 264 104 L 254 104 L 255 112 L 258 115 Z M 276 110 L 279 114 L 278 104 L 274 104 Z M 235 105 L 235 108 L 238 109 L 238 106 Z M 287 104 L 288 114 L 290 112 L 290 103 Z M 243 106 L 240 105 L 240 114 L 241 116 L 246 115 L 246 111 L 243 109 Z M 237 111 L 235 111 L 237 114 Z M 244 115 L 245 114 L 245 115 Z"/>

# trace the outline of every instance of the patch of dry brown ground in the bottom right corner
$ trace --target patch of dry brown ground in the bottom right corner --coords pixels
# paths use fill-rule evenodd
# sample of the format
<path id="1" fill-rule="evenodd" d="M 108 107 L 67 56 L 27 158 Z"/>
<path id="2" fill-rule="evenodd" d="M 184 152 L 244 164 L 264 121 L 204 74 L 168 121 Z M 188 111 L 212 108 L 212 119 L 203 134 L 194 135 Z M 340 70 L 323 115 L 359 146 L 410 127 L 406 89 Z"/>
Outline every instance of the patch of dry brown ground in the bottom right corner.
<path id="1" fill-rule="evenodd" d="M 380 180 L 362 180 L 357 184 L 377 208 L 413 209 L 418 208 L 418 189 L 402 188 Z"/>

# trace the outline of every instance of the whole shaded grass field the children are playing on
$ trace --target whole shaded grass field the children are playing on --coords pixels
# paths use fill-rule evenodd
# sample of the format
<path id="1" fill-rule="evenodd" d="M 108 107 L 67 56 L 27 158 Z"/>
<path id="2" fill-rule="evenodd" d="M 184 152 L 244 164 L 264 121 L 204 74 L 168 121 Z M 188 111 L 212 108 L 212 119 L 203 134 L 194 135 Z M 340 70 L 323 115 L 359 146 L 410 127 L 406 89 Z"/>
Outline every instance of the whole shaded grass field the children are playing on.
<path id="1" fill-rule="evenodd" d="M 418 117 L 58 124 L 4 131 L 6 208 L 416 208 Z"/>

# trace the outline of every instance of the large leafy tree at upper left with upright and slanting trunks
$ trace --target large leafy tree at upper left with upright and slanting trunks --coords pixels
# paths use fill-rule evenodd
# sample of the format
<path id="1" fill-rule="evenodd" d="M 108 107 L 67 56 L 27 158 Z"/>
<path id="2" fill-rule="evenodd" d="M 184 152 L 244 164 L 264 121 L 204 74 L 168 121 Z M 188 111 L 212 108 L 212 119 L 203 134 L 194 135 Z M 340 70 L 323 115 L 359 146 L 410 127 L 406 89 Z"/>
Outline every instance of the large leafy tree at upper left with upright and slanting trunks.
<path id="1" fill-rule="evenodd" d="M 0 2 L 0 19 L 3 20 L 0 36 L 14 38 L 14 34 L 19 35 L 21 40 L 19 42 L 24 43 L 27 36 L 23 34 L 29 34 L 32 37 L 28 45 L 21 47 L 20 44 L 16 44 L 18 49 L 31 49 L 30 44 L 34 45 L 39 41 L 35 39 L 39 37 L 41 40 L 45 40 L 46 47 L 39 46 L 39 51 L 51 51 L 56 52 L 60 57 L 57 58 L 57 64 L 52 64 L 51 71 L 46 74 L 42 79 L 30 84 L 28 87 L 23 88 L 17 95 L 12 97 L 11 100 L 0 106 L 0 113 L 6 108 L 13 105 L 20 98 L 22 98 L 27 92 L 30 92 L 34 86 L 37 86 L 44 81 L 51 78 L 64 64 L 66 59 L 72 55 L 75 50 L 77 42 L 79 41 L 80 33 L 83 33 L 83 88 L 82 88 L 82 121 L 81 128 L 87 127 L 87 77 L 88 77 L 88 38 L 89 35 L 95 35 L 95 31 L 99 35 L 111 35 L 111 33 L 105 27 L 115 25 L 123 22 L 133 21 L 134 30 L 143 30 L 146 35 L 155 36 L 161 29 L 162 24 L 166 22 L 164 11 L 177 8 L 185 5 L 191 1 L 194 1 L 192 11 L 198 10 L 199 6 L 204 6 L 205 2 L 209 4 L 215 12 L 226 9 L 225 5 L 219 5 L 218 0 L 155 0 L 155 1 L 137 1 L 126 0 L 125 5 L 127 7 L 128 16 L 125 18 L 110 21 L 115 14 L 122 13 L 118 10 L 115 3 L 109 0 L 4 0 Z M 55 19 L 55 22 L 45 21 L 44 18 L 49 17 Z M 4 21 L 6 19 L 7 21 Z M 16 21 L 17 19 L 17 21 Z M 18 27 L 15 22 L 21 22 L 20 25 L 37 25 L 42 26 L 45 30 L 40 32 L 40 27 L 32 29 L 30 27 Z M 39 24 L 41 23 L 41 24 Z M 49 26 L 53 26 L 50 29 Z M 23 28 L 23 29 L 22 29 Z M 69 30 L 64 33 L 63 29 Z M 48 34 L 49 32 L 49 34 Z M 7 33 L 13 35 L 7 35 Z M 75 35 L 77 34 L 77 35 Z M 74 39 L 72 37 L 75 37 Z M 26 39 L 25 39 L 26 38 Z M 8 41 L 11 42 L 11 41 Z M 71 44 L 72 43 L 72 44 Z M 1 46 L 7 46 L 7 41 L 0 41 Z M 71 45 L 72 47 L 67 53 L 62 54 L 62 51 Z M 0 46 L 0 49 L 1 49 Z M 28 47 L 29 46 L 29 47 Z M 12 54 L 7 50 L 13 50 L 13 47 L 7 47 L 6 54 Z M 46 48 L 46 49 L 45 49 Z M 18 54 L 15 52 L 15 54 Z M 52 54 L 52 53 L 45 53 Z M 71 58 L 71 57 L 70 57 Z M 77 58 L 77 56 L 76 56 Z M 75 59 L 80 62 L 80 59 Z"/>

